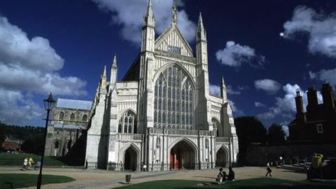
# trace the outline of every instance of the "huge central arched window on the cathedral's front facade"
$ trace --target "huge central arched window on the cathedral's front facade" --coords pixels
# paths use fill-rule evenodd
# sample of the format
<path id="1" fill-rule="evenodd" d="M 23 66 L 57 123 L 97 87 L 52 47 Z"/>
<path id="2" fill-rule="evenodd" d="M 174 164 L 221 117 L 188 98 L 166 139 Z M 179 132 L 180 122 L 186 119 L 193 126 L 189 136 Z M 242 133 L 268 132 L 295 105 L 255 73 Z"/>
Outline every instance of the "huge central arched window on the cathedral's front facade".
<path id="1" fill-rule="evenodd" d="M 194 129 L 194 87 L 181 69 L 172 66 L 155 83 L 154 127 Z"/>

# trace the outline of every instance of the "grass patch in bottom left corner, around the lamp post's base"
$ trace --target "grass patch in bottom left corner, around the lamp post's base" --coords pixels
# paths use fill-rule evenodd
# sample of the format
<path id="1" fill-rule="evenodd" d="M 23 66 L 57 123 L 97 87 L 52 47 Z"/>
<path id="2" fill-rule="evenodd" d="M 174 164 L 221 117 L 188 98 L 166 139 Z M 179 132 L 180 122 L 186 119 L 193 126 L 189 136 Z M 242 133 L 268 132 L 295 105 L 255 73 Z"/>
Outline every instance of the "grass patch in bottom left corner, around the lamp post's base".
<path id="1" fill-rule="evenodd" d="M 42 177 L 42 185 L 48 183 L 66 183 L 75 181 L 69 176 L 56 176 L 45 174 Z M 0 174 L 0 188 L 23 188 L 36 186 L 37 174 Z"/>

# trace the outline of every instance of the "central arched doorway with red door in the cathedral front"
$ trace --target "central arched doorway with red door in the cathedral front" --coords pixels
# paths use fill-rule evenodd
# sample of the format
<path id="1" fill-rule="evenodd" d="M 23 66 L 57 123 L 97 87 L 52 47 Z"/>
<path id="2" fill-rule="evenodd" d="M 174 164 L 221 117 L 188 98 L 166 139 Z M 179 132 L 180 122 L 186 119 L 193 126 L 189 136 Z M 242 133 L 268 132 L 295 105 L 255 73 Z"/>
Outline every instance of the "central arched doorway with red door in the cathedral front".
<path id="1" fill-rule="evenodd" d="M 196 152 L 186 141 L 180 141 L 170 150 L 170 169 L 195 169 Z"/>

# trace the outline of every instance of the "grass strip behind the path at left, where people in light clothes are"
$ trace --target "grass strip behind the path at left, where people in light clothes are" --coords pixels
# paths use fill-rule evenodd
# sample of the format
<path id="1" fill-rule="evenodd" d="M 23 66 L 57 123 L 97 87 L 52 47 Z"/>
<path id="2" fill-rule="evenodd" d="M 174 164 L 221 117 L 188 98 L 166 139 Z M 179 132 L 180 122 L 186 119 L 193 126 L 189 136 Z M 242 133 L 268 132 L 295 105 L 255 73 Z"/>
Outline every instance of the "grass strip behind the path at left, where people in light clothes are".
<path id="1" fill-rule="evenodd" d="M 41 155 L 36 155 L 32 153 L 0 153 L 0 165 L 23 165 L 23 160 L 25 158 L 32 157 L 34 162 L 41 161 Z M 64 166 L 66 165 L 62 158 L 58 157 L 44 157 L 44 164 L 49 166 Z"/>

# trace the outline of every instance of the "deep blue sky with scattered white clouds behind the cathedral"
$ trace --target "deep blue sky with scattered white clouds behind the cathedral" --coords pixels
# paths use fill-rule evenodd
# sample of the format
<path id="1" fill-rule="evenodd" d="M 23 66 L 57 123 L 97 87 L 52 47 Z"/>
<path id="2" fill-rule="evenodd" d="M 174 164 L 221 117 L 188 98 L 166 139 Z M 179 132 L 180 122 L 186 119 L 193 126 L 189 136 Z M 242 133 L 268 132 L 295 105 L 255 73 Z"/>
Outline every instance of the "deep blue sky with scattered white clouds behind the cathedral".
<path id="1" fill-rule="evenodd" d="M 104 65 L 118 79 L 139 53 L 147 0 L 0 1 L 0 120 L 43 125 L 42 100 L 92 100 Z M 179 28 L 195 52 L 200 12 L 207 29 L 209 81 L 228 85 L 234 116 L 265 126 L 295 116 L 295 91 L 336 86 L 336 2 L 177 1 Z M 157 36 L 172 1 L 153 0 Z M 321 95 L 318 99 L 322 102 Z M 307 99 L 304 99 L 307 102 Z"/>

